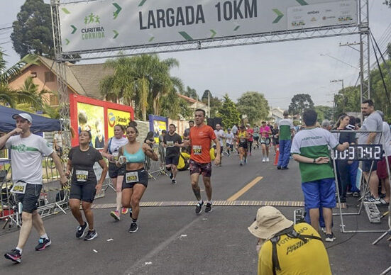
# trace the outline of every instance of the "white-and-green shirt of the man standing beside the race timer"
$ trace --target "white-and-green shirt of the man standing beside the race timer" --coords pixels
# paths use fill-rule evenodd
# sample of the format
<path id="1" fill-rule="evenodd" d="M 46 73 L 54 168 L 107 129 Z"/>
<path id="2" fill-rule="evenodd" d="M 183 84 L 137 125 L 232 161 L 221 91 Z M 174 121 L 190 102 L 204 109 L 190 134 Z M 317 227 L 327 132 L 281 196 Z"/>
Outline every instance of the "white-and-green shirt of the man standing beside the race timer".
<path id="1" fill-rule="evenodd" d="M 322 128 L 309 128 L 301 130 L 294 135 L 290 152 L 311 159 L 330 157 L 327 145 L 335 149 L 338 144 L 338 140 L 329 131 Z M 302 182 L 334 178 L 331 163 L 315 164 L 300 162 L 299 169 L 302 175 Z"/>

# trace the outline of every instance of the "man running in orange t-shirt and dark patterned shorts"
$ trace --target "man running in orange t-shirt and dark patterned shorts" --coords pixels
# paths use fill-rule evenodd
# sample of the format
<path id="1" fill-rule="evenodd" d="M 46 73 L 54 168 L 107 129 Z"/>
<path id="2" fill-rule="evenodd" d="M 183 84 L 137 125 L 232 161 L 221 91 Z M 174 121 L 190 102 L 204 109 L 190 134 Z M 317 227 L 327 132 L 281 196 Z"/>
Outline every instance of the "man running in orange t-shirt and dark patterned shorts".
<path id="1" fill-rule="evenodd" d="M 208 201 L 206 202 L 205 212 L 211 212 L 211 141 L 216 144 L 216 158 L 214 163 L 217 165 L 220 163 L 220 142 L 216 140 L 214 130 L 204 124 L 205 111 L 197 109 L 195 111 L 195 123 L 196 125 L 190 129 L 189 140 L 185 141 L 185 145 L 192 147 L 192 153 L 190 156 L 190 178 L 192 180 L 192 189 L 194 196 L 197 198 L 196 214 L 201 213 L 204 201 L 201 198 L 201 190 L 198 186 L 199 175 L 202 174 L 204 181 L 206 196 Z"/>

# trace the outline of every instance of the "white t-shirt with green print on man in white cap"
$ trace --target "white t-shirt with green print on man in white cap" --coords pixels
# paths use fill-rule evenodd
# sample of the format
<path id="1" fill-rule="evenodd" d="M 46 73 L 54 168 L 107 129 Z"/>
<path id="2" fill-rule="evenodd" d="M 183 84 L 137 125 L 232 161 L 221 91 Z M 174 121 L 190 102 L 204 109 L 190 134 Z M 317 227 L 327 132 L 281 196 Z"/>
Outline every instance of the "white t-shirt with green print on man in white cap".
<path id="1" fill-rule="evenodd" d="M 6 148 L 11 149 L 12 180 L 28 184 L 42 184 L 42 155 L 48 156 L 53 148 L 39 135 L 27 138 L 20 135 L 9 138 Z"/>

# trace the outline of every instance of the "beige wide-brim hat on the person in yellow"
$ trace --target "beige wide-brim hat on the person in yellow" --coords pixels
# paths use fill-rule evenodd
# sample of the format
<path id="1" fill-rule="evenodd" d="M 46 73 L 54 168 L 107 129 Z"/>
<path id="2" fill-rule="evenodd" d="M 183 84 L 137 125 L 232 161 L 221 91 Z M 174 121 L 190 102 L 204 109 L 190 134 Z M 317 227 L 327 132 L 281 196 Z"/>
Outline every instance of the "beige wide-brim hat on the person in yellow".
<path id="1" fill-rule="evenodd" d="M 255 222 L 248 227 L 248 231 L 255 237 L 268 240 L 277 232 L 290 228 L 292 220 L 288 220 L 275 207 L 264 206 L 258 209 Z"/>

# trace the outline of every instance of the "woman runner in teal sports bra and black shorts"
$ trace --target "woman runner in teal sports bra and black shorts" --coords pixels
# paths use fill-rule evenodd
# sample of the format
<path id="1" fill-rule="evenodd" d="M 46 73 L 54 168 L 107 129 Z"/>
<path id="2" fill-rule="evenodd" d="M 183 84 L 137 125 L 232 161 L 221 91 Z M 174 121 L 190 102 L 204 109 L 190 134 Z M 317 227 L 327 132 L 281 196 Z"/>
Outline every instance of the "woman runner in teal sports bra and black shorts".
<path id="1" fill-rule="evenodd" d="M 146 143 L 137 142 L 137 123 L 131 121 L 126 128 L 126 138 L 128 144 L 119 150 L 119 161 L 116 165 L 121 166 L 121 162 L 126 162 L 126 172 L 122 181 L 122 206 L 131 208 L 131 227 L 129 233 L 138 230 L 137 219 L 140 212 L 140 200 L 148 186 L 148 172 L 144 168 L 145 155 L 153 160 L 159 157 Z"/>

